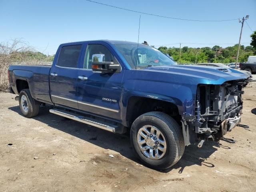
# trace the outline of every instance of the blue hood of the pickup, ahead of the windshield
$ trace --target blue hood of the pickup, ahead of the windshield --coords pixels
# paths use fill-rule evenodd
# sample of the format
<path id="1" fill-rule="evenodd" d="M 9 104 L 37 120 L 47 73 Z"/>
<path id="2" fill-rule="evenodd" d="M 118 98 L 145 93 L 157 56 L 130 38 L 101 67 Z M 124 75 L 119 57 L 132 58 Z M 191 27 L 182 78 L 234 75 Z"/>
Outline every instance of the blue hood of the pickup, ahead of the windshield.
<path id="1" fill-rule="evenodd" d="M 192 81 L 193 84 L 222 84 L 230 80 L 248 78 L 248 75 L 231 68 L 196 66 L 196 65 L 171 65 L 151 66 L 142 70 L 172 74 L 170 78 L 180 81 Z"/>

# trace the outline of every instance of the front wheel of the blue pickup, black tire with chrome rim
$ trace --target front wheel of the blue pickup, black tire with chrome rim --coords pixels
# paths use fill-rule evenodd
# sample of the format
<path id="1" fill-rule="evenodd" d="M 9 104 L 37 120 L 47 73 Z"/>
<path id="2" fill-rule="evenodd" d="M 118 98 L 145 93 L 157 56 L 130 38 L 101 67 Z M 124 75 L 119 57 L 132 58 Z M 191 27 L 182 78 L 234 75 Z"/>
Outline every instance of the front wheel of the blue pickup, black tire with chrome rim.
<path id="1" fill-rule="evenodd" d="M 152 126 L 153 129 L 157 129 L 158 131 L 161 132 L 163 136 L 163 137 L 159 136 L 159 138 L 154 140 L 156 141 L 154 142 L 154 145 L 158 143 L 157 141 L 159 141 L 160 143 L 160 140 L 165 140 L 165 143 L 166 143 L 165 144 L 166 151 L 165 153 L 162 153 L 162 157 L 158 159 L 152 159 L 154 157 L 148 156 L 148 153 L 150 155 L 150 149 L 152 149 L 152 147 L 153 148 L 156 147 L 156 146 L 152 146 L 153 142 L 150 142 L 151 139 L 148 137 L 148 135 L 147 135 L 147 139 L 145 139 L 146 141 L 145 144 L 143 145 L 138 144 L 138 140 L 145 142 L 143 136 L 141 136 L 141 132 L 143 134 L 146 133 L 142 131 L 142 128 L 144 130 L 148 126 Z M 147 128 L 147 130 L 150 129 L 150 132 L 151 132 L 152 128 L 151 127 Z M 150 137 L 151 137 L 151 134 L 150 134 Z M 154 137 L 154 134 L 153 134 L 153 137 Z M 155 138 L 156 137 L 154 137 L 154 139 Z M 140 158 L 140 160 L 146 166 L 157 169 L 157 170 L 164 170 L 176 164 L 182 157 L 185 150 L 184 138 L 183 138 L 183 134 L 180 126 L 173 118 L 171 118 L 170 116 L 168 116 L 163 112 L 148 112 L 136 118 L 136 120 L 133 122 L 131 127 L 130 139 L 131 139 L 132 146 L 136 154 L 138 154 L 138 157 Z M 150 147 L 149 150 L 147 150 L 146 152 L 145 151 L 142 152 L 142 150 L 145 150 L 148 147 Z M 161 146 L 157 146 L 157 149 L 160 152 L 161 152 L 160 150 L 161 148 L 162 148 Z M 153 152 L 152 154 L 153 155 L 155 154 L 155 156 L 157 156 L 156 152 Z"/>

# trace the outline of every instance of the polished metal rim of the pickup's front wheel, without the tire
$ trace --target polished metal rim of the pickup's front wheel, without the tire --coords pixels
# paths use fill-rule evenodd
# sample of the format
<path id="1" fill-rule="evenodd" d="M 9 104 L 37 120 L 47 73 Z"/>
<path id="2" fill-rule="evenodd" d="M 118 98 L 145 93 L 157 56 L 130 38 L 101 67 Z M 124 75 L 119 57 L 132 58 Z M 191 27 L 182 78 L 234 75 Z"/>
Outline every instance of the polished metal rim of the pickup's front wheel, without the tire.
<path id="1" fill-rule="evenodd" d="M 141 152 L 153 160 L 161 159 L 166 153 L 166 140 L 162 132 L 151 125 L 139 129 L 137 142 Z"/>

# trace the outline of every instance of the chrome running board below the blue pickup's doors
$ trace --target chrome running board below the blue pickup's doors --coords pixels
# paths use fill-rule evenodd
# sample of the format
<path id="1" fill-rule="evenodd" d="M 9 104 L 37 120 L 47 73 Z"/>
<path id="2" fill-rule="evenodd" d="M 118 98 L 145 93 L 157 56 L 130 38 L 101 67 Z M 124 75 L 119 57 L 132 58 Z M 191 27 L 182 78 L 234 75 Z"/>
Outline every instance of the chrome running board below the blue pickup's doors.
<path id="1" fill-rule="evenodd" d="M 60 115 L 75 121 L 79 121 L 82 122 L 84 124 L 88 124 L 94 127 L 98 127 L 110 132 L 116 132 L 116 128 L 118 127 L 117 125 L 107 125 L 108 123 L 100 121 L 100 120 L 96 120 L 94 118 L 89 118 L 86 116 L 80 116 L 78 114 L 72 113 L 72 112 L 67 112 L 64 110 L 59 110 L 59 109 L 50 109 L 49 110 L 50 113 L 56 114 L 56 115 Z"/>

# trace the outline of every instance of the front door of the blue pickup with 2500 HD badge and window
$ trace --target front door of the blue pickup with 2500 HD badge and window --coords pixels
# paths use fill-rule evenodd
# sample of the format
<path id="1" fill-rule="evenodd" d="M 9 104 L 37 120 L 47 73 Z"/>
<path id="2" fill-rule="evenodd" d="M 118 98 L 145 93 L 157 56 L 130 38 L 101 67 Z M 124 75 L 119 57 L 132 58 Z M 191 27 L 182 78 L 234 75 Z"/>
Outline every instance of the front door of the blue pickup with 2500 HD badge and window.
<path id="1" fill-rule="evenodd" d="M 120 96 L 122 77 L 120 73 L 92 72 L 92 61 L 119 62 L 108 44 L 88 44 L 78 70 L 78 108 L 101 116 L 120 120 Z"/>

